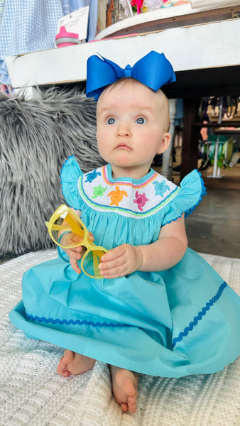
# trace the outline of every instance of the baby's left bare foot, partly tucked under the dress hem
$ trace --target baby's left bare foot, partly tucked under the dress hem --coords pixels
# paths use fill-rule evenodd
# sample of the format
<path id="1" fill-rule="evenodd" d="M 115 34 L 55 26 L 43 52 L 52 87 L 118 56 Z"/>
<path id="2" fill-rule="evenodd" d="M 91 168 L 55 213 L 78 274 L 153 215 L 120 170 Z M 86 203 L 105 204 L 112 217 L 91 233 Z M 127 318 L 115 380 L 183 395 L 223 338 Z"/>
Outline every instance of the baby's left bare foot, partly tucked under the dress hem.
<path id="1" fill-rule="evenodd" d="M 62 358 L 59 360 L 57 373 L 63 377 L 86 373 L 93 368 L 95 362 L 95 359 L 65 349 Z"/>

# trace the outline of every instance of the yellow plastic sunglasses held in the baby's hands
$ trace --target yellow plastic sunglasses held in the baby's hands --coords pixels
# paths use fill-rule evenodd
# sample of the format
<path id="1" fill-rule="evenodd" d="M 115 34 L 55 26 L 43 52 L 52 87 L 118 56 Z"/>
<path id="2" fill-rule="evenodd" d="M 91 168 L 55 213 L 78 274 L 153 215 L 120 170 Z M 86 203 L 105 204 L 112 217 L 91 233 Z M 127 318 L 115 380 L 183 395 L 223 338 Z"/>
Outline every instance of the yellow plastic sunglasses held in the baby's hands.
<path id="1" fill-rule="evenodd" d="M 81 258 L 81 269 L 87 276 L 91 278 L 103 278 L 99 271 L 99 263 L 107 249 L 96 246 L 90 239 L 87 227 L 84 225 L 80 217 L 75 214 L 65 204 L 61 204 L 50 217 L 49 222 L 45 222 L 50 238 L 62 249 L 74 249 L 75 247 L 84 246 L 86 251 Z M 60 238 L 58 232 L 62 231 Z M 70 244 L 60 244 L 63 234 L 71 233 Z M 62 257 L 62 256 L 61 256 Z"/>

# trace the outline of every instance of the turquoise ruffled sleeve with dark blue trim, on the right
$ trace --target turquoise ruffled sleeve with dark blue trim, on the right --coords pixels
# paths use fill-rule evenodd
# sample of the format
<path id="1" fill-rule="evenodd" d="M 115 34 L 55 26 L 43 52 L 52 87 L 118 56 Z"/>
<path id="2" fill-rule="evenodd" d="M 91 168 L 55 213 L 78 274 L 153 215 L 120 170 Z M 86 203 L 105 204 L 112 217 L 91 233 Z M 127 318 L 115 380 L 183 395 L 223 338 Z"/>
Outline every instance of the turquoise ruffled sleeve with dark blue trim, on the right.
<path id="1" fill-rule="evenodd" d="M 192 170 L 180 183 L 180 191 L 165 208 L 162 226 L 178 219 L 185 212 L 185 217 L 191 214 L 202 197 L 207 195 L 204 182 L 198 170 Z"/>

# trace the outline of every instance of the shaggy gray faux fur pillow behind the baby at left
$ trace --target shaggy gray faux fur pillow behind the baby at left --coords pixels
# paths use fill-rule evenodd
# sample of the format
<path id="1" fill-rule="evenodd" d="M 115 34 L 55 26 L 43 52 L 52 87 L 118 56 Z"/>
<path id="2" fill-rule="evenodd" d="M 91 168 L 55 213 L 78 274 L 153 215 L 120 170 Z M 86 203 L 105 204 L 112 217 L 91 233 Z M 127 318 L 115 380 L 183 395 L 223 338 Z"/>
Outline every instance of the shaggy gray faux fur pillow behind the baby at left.
<path id="1" fill-rule="evenodd" d="M 0 258 L 53 246 L 45 220 L 64 202 L 62 164 L 72 154 L 84 173 L 104 164 L 95 111 L 80 84 L 41 99 L 0 94 Z"/>

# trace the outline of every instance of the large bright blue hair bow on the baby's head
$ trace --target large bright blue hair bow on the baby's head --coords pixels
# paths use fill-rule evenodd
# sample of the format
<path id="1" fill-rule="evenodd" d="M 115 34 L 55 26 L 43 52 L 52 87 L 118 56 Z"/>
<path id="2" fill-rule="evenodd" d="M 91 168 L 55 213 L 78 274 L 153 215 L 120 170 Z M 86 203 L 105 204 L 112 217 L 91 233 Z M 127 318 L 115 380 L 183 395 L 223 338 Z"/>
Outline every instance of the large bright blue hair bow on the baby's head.
<path id="1" fill-rule="evenodd" d="M 132 77 L 155 92 L 164 84 L 176 80 L 169 60 L 164 53 L 155 50 L 143 56 L 133 67 L 126 65 L 125 68 L 119 67 L 109 59 L 92 55 L 87 60 L 87 97 L 94 97 L 97 101 L 105 87 L 123 77 Z"/>

